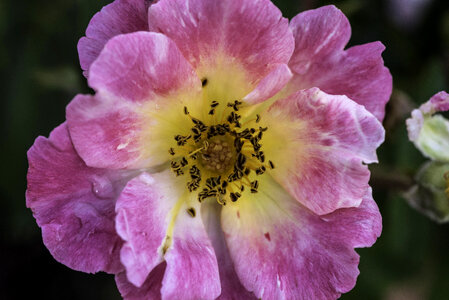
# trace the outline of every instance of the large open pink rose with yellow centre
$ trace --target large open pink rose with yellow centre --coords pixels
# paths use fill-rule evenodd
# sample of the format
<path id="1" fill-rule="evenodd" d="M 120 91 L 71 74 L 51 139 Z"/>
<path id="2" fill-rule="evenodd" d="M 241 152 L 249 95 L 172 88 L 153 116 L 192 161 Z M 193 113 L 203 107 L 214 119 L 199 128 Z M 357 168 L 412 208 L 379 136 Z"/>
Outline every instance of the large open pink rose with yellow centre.
<path id="1" fill-rule="evenodd" d="M 367 164 L 391 93 L 384 46 L 344 49 L 334 6 L 117 0 L 79 44 L 95 95 L 28 152 L 52 255 L 125 299 L 332 299 L 381 216 Z"/>

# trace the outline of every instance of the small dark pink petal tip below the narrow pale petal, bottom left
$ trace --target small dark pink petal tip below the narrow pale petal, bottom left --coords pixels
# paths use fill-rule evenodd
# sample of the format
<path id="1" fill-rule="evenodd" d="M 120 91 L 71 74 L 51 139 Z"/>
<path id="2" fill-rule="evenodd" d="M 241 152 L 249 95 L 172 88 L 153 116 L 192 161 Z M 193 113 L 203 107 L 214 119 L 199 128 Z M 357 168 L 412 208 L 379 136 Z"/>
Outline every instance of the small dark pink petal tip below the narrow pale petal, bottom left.
<path id="1" fill-rule="evenodd" d="M 124 300 L 158 300 L 161 299 L 162 278 L 165 272 L 165 263 L 161 263 L 151 271 L 144 284 L 138 288 L 128 281 L 126 272 L 115 276 L 115 283 Z"/>

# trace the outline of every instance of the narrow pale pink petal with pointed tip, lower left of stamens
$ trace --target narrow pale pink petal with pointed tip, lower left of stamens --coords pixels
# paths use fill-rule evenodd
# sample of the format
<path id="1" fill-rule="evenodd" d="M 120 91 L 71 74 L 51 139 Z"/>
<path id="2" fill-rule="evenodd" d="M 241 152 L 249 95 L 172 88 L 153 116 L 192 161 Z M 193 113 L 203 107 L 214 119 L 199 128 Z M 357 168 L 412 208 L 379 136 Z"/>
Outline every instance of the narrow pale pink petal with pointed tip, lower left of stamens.
<path id="1" fill-rule="evenodd" d="M 128 280 L 140 287 L 148 274 L 163 261 L 159 247 L 170 222 L 169 213 L 177 199 L 157 183 L 167 177 L 162 174 L 141 174 L 126 185 L 116 204 L 116 230 L 125 241 L 120 258 L 126 267 Z"/>

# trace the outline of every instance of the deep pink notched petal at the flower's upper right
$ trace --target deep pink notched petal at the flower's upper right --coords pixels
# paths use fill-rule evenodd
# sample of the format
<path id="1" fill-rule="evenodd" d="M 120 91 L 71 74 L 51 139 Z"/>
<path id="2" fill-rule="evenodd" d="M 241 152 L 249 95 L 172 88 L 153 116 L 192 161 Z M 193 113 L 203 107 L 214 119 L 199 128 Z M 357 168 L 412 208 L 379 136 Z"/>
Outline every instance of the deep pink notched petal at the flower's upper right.
<path id="1" fill-rule="evenodd" d="M 292 19 L 290 27 L 295 52 L 289 63 L 294 77 L 288 93 L 318 87 L 346 95 L 382 120 L 392 91 L 391 74 L 381 56 L 385 47 L 374 42 L 344 50 L 351 28 L 334 6 L 303 12 Z"/>

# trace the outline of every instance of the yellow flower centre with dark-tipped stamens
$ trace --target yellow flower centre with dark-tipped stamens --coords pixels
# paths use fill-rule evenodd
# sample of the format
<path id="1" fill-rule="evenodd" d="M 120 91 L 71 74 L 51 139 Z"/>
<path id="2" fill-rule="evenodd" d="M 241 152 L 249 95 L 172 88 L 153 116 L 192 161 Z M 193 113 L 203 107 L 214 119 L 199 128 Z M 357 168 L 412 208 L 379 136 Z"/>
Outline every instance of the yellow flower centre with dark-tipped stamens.
<path id="1" fill-rule="evenodd" d="M 212 101 L 208 115 L 214 116 L 218 106 L 219 102 Z M 176 147 L 168 150 L 173 156 L 170 165 L 176 176 L 187 176 L 186 187 L 190 193 L 196 193 L 199 202 L 215 198 L 226 205 L 228 201 L 236 202 L 245 192 L 257 193 L 257 176 L 275 168 L 262 150 L 261 141 L 268 127 L 259 126 L 260 115 L 241 123 L 242 106 L 239 100 L 228 102 L 221 120 L 214 118 L 211 125 L 184 107 L 192 127 L 188 135 L 174 136 Z"/>

